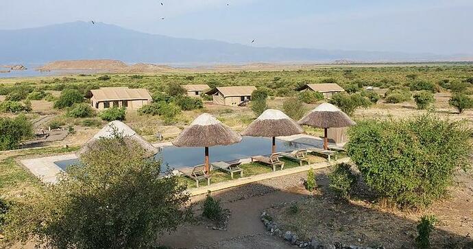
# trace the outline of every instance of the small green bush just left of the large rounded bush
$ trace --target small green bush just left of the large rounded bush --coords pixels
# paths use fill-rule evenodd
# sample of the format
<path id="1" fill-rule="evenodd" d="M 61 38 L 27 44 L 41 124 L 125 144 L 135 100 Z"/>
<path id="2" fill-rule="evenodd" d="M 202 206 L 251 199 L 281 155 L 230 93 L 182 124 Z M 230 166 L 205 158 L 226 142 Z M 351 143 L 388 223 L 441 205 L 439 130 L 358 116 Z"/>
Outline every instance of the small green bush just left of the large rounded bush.
<path id="1" fill-rule="evenodd" d="M 339 163 L 335 165 L 328 179 L 330 179 L 330 189 L 341 195 L 342 198 L 349 199 L 350 192 L 356 185 L 357 177 L 352 173 L 352 166 L 348 163 Z"/>

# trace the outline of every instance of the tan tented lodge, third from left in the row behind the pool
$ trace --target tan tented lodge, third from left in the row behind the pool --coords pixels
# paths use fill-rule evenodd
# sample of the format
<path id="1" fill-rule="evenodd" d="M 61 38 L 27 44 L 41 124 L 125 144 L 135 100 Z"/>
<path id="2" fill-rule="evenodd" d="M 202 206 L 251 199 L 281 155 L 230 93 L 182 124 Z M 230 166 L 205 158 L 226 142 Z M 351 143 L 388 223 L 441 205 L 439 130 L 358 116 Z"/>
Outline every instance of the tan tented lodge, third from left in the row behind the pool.
<path id="1" fill-rule="evenodd" d="M 249 102 L 252 98 L 254 86 L 221 86 L 207 92 L 212 95 L 214 104 L 238 106 L 242 102 Z"/>

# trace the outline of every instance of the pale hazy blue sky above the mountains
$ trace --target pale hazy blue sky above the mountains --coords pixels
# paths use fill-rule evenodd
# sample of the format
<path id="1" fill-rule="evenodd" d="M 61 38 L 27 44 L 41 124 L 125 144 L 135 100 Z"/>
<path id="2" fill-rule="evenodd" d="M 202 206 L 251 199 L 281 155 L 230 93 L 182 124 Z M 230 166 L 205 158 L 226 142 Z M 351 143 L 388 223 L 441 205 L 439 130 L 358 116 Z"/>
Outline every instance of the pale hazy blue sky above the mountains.
<path id="1" fill-rule="evenodd" d="M 260 47 L 473 54 L 472 13 L 473 0 L 2 0 L 0 29 L 93 19 Z"/>

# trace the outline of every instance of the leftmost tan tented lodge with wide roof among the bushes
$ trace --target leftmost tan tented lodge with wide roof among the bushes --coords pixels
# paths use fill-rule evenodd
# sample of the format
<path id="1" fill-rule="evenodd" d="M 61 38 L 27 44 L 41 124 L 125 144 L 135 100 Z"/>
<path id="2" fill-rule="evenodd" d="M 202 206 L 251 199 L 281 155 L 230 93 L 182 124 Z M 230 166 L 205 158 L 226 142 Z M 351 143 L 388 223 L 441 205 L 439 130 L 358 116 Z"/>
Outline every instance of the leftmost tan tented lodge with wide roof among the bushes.
<path id="1" fill-rule="evenodd" d="M 103 87 L 90 90 L 90 105 L 95 109 L 125 107 L 136 110 L 152 102 L 151 95 L 144 88 Z"/>

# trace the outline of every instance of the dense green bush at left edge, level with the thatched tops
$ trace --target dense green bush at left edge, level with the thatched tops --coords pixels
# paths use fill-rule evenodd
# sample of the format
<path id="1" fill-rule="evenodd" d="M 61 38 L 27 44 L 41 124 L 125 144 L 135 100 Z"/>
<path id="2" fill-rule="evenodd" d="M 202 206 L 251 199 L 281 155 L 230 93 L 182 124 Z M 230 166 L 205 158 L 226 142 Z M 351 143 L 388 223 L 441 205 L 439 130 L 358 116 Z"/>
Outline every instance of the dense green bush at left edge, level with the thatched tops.
<path id="1" fill-rule="evenodd" d="M 25 115 L 0 117 L 0 150 L 13 150 L 23 139 L 33 136 L 33 125 Z"/>

